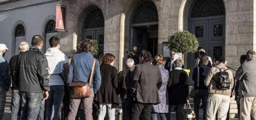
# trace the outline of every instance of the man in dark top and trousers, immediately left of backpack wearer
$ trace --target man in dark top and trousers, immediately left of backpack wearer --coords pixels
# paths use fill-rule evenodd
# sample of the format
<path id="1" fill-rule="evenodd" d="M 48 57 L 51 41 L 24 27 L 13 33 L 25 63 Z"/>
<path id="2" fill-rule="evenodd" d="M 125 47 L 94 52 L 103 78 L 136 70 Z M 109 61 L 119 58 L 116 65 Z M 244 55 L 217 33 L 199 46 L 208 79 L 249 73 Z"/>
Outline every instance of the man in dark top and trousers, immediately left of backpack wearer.
<path id="1" fill-rule="evenodd" d="M 192 74 L 192 80 L 194 81 L 194 90 L 197 90 L 197 94 L 193 97 L 194 102 L 194 112 L 195 118 L 198 119 L 199 116 L 199 107 L 202 99 L 203 104 L 203 120 L 206 120 L 206 107 L 207 107 L 207 98 L 208 98 L 208 88 L 204 85 L 204 79 L 208 72 L 210 71 L 210 67 L 207 66 L 209 62 L 208 56 L 203 56 L 200 59 L 200 66 L 194 68 Z"/>

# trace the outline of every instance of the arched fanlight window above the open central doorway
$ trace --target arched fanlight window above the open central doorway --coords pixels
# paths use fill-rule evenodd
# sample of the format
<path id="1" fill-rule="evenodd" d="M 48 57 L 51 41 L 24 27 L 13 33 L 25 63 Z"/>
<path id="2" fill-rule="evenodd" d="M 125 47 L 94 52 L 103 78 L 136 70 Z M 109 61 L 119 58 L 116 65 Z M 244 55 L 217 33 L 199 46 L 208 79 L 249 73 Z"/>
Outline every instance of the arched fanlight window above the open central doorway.
<path id="1" fill-rule="evenodd" d="M 158 22 L 158 10 L 153 2 L 141 3 L 133 13 L 131 24 Z"/>

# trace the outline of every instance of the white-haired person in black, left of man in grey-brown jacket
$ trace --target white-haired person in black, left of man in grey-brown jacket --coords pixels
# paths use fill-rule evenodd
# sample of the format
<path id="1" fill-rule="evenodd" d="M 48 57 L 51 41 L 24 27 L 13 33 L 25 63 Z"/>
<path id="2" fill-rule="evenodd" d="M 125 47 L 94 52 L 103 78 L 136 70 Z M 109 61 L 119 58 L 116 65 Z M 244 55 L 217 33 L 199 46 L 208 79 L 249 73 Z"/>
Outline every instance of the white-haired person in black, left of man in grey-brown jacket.
<path id="1" fill-rule="evenodd" d="M 134 61 L 128 58 L 126 61 L 126 69 L 118 73 L 119 86 L 121 90 L 122 108 L 124 111 L 123 120 L 130 120 L 132 100 L 131 96 L 131 82 L 134 71 Z"/>

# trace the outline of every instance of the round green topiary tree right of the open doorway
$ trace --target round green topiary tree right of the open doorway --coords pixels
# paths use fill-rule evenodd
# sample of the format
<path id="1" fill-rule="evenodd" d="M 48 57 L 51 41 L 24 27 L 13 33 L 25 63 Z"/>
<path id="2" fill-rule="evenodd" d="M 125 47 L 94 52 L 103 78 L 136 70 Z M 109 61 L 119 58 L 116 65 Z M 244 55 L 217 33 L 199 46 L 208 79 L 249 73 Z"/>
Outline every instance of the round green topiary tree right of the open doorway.
<path id="1" fill-rule="evenodd" d="M 198 46 L 197 38 L 187 30 L 179 30 L 168 37 L 168 48 L 182 53 L 183 61 L 184 53 L 194 53 L 197 51 Z M 190 72 L 190 70 L 185 71 L 188 72 L 188 74 Z"/>

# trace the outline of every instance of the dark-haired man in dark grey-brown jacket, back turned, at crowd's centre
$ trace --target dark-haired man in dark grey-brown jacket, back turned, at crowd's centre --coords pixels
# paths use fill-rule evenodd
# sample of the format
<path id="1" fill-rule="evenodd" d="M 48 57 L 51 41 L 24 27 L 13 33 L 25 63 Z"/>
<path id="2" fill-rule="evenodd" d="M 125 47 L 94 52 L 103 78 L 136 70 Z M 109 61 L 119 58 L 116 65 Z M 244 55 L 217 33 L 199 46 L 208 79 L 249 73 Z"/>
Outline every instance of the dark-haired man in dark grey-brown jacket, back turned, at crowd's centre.
<path id="1" fill-rule="evenodd" d="M 162 84 L 161 72 L 157 66 L 151 64 L 151 60 L 151 53 L 143 50 L 140 64 L 134 68 L 132 94 L 135 102 L 131 120 L 139 120 L 142 111 L 144 120 L 151 120 L 153 104 L 160 103 L 158 90 Z"/>

